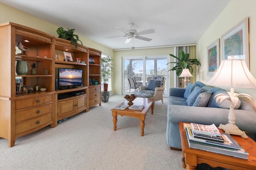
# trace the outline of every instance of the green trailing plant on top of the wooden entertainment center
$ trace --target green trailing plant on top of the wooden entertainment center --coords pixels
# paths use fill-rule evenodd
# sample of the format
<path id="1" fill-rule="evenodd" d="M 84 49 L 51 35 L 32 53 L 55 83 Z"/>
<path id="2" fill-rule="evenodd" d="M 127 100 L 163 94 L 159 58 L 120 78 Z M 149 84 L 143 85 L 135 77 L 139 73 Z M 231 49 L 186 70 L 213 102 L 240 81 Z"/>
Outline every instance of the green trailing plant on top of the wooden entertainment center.
<path id="1" fill-rule="evenodd" d="M 74 34 L 74 31 L 75 29 L 68 29 L 68 31 L 66 31 L 62 27 L 59 27 L 56 32 L 58 33 L 59 38 L 71 41 L 71 44 L 74 44 L 77 49 L 78 41 L 80 40 L 78 35 Z M 80 41 L 80 43 L 83 45 L 82 41 Z"/>

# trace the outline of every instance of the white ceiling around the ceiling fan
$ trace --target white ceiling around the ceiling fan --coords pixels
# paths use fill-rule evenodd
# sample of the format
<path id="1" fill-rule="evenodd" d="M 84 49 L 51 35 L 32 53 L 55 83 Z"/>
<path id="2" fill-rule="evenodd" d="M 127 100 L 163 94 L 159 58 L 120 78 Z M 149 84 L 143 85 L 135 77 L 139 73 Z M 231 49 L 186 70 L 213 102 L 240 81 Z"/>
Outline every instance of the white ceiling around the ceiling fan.
<path id="1" fill-rule="evenodd" d="M 134 39 L 134 47 L 196 43 L 230 0 L 1 0 L 3 4 L 110 47 L 132 48 L 116 27 L 155 33 Z M 17 16 L 18 17 L 18 16 Z M 57 33 L 54 36 L 58 36 Z"/>

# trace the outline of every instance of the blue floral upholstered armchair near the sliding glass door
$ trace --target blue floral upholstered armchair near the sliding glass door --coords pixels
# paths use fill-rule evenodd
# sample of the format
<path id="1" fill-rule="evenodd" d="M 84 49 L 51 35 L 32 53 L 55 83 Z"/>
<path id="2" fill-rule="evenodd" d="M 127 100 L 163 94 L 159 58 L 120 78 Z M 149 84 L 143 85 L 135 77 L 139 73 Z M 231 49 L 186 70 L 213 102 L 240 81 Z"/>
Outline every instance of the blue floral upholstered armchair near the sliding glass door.
<path id="1" fill-rule="evenodd" d="M 154 76 L 148 81 L 148 86 L 139 86 L 140 91 L 134 95 L 138 98 L 154 98 L 154 102 L 163 101 L 165 77 Z"/>

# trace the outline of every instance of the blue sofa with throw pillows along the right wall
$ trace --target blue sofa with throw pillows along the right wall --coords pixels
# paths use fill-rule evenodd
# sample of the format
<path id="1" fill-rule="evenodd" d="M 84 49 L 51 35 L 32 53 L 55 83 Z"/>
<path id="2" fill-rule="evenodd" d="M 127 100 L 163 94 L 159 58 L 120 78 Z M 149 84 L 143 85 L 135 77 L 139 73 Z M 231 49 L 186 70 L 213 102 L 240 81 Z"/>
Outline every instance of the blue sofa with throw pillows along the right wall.
<path id="1" fill-rule="evenodd" d="M 221 88 L 212 88 L 202 82 L 188 84 L 187 88 L 170 88 L 166 140 L 170 149 L 179 150 L 179 122 L 200 123 L 216 126 L 228 123 L 228 101 L 217 102 L 216 94 L 227 94 Z M 192 95 L 192 96 L 191 96 Z M 248 102 L 239 100 L 235 110 L 236 125 L 242 131 L 256 139 L 256 111 Z"/>

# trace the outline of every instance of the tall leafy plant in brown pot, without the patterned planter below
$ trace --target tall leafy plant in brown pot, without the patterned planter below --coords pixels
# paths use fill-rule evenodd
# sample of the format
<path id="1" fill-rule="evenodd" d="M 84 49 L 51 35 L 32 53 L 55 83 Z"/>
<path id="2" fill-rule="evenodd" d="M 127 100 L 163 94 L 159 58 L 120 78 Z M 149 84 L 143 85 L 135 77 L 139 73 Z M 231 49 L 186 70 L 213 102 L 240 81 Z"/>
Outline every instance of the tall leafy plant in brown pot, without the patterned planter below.
<path id="1" fill-rule="evenodd" d="M 112 76 L 112 71 L 114 68 L 112 67 L 113 58 L 110 56 L 101 58 L 101 80 L 104 84 L 104 92 L 108 91 L 108 81 Z"/>

